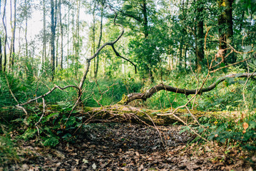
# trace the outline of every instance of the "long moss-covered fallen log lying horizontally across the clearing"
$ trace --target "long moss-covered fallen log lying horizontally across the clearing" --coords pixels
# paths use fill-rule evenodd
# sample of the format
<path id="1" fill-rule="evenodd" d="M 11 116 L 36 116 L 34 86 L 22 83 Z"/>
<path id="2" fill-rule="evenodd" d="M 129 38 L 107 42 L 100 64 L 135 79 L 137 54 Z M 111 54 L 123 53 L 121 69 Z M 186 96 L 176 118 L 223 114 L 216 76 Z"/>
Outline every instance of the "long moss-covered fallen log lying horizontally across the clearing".
<path id="1" fill-rule="evenodd" d="M 42 110 L 42 105 L 35 106 L 39 111 Z M 234 120 L 240 118 L 239 112 L 205 112 L 198 110 L 187 110 L 180 108 L 173 113 L 175 108 L 167 108 L 164 110 L 150 110 L 146 108 L 135 108 L 130 105 L 108 105 L 99 108 L 91 107 L 76 107 L 76 112 L 71 115 L 83 116 L 84 123 L 140 123 L 146 125 L 171 125 L 173 123 L 183 124 L 178 118 L 186 123 L 196 123 L 195 119 L 205 118 L 230 118 Z M 61 106 L 47 105 L 47 110 L 44 115 L 51 113 L 59 113 Z M 34 113 L 32 110 L 28 110 Z M 69 113 L 63 113 L 69 115 Z M 174 114 L 174 115 L 173 115 Z M 193 116 L 192 116 L 193 115 Z M 176 117 L 175 117 L 176 116 Z M 24 112 L 20 108 L 0 108 L 0 121 L 15 120 L 16 118 L 24 117 Z M 178 117 L 178 118 L 177 118 Z M 195 118 L 195 119 L 194 119 Z"/>

